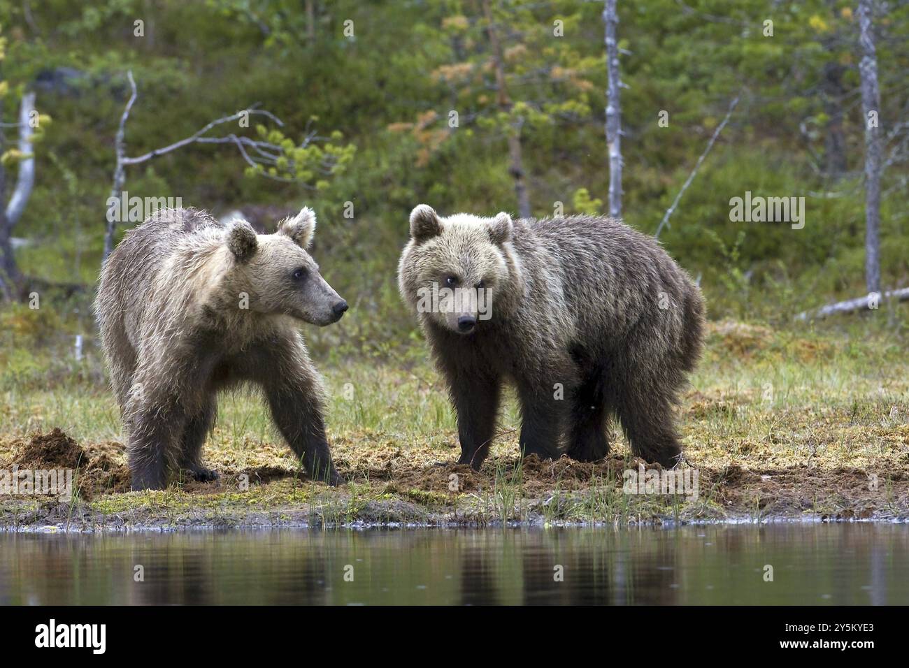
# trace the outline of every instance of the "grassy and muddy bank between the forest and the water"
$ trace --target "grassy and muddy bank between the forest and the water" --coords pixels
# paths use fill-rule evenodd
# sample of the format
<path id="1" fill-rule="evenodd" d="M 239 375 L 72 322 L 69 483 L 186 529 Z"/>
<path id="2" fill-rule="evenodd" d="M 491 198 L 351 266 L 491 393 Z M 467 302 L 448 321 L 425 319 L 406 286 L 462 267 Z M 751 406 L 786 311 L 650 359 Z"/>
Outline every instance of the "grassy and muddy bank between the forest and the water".
<path id="1" fill-rule="evenodd" d="M 323 369 L 329 440 L 350 481 L 308 481 L 255 394 L 221 398 L 205 460 L 215 484 L 112 492 L 102 482 L 59 503 L 0 497 L 0 523 L 36 526 L 336 525 L 351 523 L 634 523 L 768 517 L 905 517 L 909 509 L 909 362 L 899 337 L 711 324 L 703 363 L 679 407 L 697 498 L 625 494 L 634 469 L 620 430 L 598 464 L 517 459 L 513 395 L 480 473 L 456 466 L 451 411 L 427 364 Z M 0 460 L 30 434 L 60 427 L 123 468 L 119 416 L 104 387 L 7 389 Z M 102 478 L 107 480 L 107 478 Z M 113 478 L 115 480 L 115 478 Z M 98 486 L 100 485 L 100 486 Z M 105 487 L 105 485 L 107 485 Z"/>

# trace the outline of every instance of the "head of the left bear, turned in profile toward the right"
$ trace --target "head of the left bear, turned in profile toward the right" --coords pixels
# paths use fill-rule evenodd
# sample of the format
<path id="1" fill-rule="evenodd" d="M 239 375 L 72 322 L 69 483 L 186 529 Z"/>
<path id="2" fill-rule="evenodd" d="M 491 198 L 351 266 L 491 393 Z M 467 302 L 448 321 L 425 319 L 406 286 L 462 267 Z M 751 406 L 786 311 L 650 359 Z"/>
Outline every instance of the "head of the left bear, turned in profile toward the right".
<path id="1" fill-rule="evenodd" d="M 234 258 L 226 289 L 248 294 L 249 310 L 285 314 L 306 323 L 337 322 L 347 303 L 319 274 L 306 252 L 315 233 L 315 213 L 304 207 L 294 218 L 278 225 L 275 234 L 255 234 L 245 220 L 227 230 L 226 242 Z"/>

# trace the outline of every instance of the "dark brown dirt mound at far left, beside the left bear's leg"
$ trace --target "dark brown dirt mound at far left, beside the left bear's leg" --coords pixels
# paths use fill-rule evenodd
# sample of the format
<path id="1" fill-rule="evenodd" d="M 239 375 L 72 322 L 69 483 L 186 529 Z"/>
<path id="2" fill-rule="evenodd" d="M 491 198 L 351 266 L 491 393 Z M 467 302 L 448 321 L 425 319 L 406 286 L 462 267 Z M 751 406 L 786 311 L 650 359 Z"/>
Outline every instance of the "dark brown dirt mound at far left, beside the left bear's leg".
<path id="1" fill-rule="evenodd" d="M 85 449 L 55 427 L 17 444 L 12 463 L 20 469 L 73 469 L 77 493 L 90 500 L 97 494 L 129 492 L 129 467 L 116 461 L 122 453 L 123 446 L 115 443 Z"/>

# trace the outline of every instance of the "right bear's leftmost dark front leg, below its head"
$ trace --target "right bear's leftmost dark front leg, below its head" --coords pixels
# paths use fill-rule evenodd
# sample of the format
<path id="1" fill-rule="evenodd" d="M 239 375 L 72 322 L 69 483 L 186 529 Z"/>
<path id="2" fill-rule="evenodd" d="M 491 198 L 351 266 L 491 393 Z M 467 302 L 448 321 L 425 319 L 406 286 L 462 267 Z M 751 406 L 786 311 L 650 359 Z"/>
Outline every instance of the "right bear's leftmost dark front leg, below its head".
<path id="1" fill-rule="evenodd" d="M 461 442 L 461 457 L 457 463 L 479 471 L 495 435 L 501 383 L 494 377 L 473 375 L 457 379 L 450 386 Z"/>

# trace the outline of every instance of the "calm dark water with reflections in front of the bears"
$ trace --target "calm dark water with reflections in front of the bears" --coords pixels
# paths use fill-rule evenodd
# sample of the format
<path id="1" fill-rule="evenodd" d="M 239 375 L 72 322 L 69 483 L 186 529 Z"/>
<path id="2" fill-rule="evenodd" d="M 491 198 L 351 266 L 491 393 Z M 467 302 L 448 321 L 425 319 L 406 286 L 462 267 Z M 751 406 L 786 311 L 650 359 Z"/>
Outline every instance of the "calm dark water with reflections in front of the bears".
<path id="1" fill-rule="evenodd" d="M 0 534 L 0 603 L 905 604 L 909 526 Z"/>

